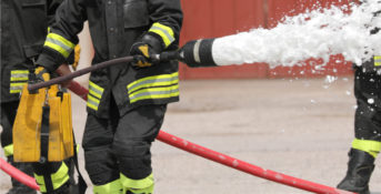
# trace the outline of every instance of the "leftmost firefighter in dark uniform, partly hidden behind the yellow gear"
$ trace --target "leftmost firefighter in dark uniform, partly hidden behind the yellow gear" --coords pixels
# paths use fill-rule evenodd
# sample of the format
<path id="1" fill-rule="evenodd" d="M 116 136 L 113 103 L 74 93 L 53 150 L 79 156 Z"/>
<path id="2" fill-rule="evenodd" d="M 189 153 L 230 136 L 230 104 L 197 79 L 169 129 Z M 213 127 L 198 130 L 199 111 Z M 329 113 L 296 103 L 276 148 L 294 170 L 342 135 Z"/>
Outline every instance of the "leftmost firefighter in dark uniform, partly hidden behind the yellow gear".
<path id="1" fill-rule="evenodd" d="M 1 146 L 13 166 L 33 175 L 42 193 L 68 193 L 69 162 L 46 164 L 16 163 L 13 161 L 12 125 L 20 102 L 20 92 L 28 82 L 29 70 L 42 51 L 48 25 L 54 20 L 54 12 L 62 0 L 1 0 Z M 61 72 L 70 71 L 61 65 Z M 8 194 L 36 194 L 26 185 L 11 180 Z M 51 188 L 49 187 L 51 186 Z"/>

